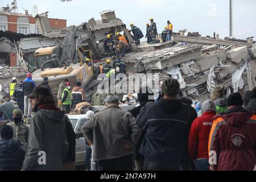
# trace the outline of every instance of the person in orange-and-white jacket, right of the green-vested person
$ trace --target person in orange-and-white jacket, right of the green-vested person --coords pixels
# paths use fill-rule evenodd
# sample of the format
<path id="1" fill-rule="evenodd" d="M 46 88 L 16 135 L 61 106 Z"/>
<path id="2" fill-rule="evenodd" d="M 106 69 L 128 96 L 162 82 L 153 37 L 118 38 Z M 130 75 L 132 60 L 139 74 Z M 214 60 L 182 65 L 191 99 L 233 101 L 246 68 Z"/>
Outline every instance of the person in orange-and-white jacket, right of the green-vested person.
<path id="1" fill-rule="evenodd" d="M 84 89 L 81 88 L 81 85 L 81 82 L 77 81 L 76 86 L 74 86 L 71 91 L 73 108 L 75 108 L 80 102 L 85 102 L 85 93 Z"/>

